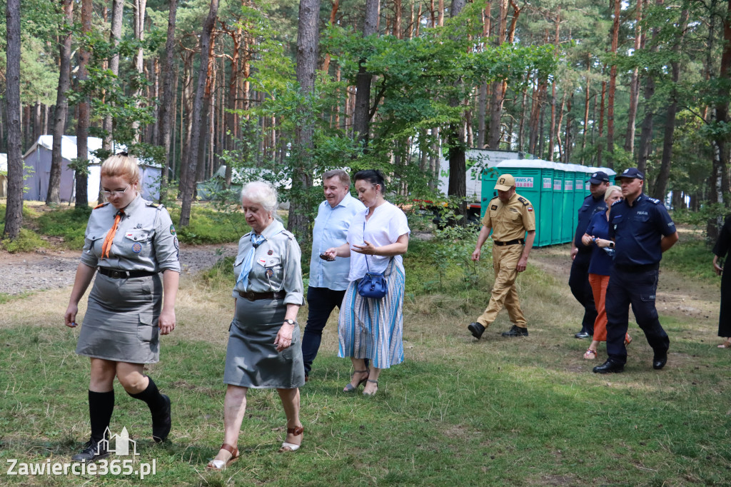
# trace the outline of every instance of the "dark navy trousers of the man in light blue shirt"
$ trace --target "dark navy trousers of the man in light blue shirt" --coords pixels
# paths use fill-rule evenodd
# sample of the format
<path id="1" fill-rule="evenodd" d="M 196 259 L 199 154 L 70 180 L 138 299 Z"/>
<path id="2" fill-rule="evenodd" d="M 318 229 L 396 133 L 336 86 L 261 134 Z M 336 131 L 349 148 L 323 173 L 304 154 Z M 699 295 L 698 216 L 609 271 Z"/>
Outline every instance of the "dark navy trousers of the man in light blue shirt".
<path id="1" fill-rule="evenodd" d="M 325 328 L 330 313 L 336 307 L 340 309 L 345 290 L 333 291 L 327 287 L 307 288 L 307 325 L 302 336 L 302 358 L 305 363 L 305 375 L 310 374 L 312 362 L 317 357 L 322 330 Z"/>

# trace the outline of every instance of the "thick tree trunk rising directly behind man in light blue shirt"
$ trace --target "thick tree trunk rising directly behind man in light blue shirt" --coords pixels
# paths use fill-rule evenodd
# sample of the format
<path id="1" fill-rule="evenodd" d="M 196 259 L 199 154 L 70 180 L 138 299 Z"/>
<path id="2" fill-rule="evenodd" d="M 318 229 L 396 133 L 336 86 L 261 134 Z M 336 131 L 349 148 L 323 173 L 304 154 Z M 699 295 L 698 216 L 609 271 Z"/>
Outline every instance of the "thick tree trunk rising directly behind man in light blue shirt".
<path id="1" fill-rule="evenodd" d="M 373 1 L 373 0 L 368 0 Z M 376 5 L 378 1 L 376 0 Z M 366 3 L 366 11 L 368 10 Z M 297 34 L 297 81 L 300 90 L 305 97 L 314 94 L 315 73 L 317 71 L 317 46 L 318 46 L 318 21 L 319 21 L 320 0 L 300 0 L 300 15 Z M 368 23 L 368 15 L 366 15 Z M 364 28 L 365 34 L 365 28 Z M 368 35 L 368 34 L 366 34 Z M 360 74 L 360 73 L 359 73 Z M 370 78 L 370 75 L 368 75 Z M 370 81 L 368 82 L 370 85 Z M 366 102 L 368 103 L 368 102 Z M 299 241 L 308 241 L 309 219 L 307 204 L 307 190 L 311 186 L 312 174 L 308 171 L 309 165 L 304 162 L 311 159 L 314 148 L 314 117 L 307 114 L 306 107 L 300 107 L 303 116 L 295 125 L 295 147 L 297 163 L 295 172 L 292 175 L 292 200 L 289 202 L 289 231 L 297 235 Z M 360 137 L 365 135 L 368 138 L 368 128 L 364 132 L 358 132 Z"/>

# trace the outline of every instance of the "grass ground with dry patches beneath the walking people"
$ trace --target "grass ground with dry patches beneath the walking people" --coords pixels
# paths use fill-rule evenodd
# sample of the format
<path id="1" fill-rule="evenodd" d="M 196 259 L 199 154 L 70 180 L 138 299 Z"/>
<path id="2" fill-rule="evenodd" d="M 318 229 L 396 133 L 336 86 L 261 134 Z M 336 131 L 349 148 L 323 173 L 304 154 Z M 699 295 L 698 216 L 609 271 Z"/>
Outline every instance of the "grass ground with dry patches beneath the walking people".
<path id="1" fill-rule="evenodd" d="M 606 357 L 605 347 L 599 360 L 581 358 L 588 341 L 572 337 L 580 309 L 561 279 L 529 265 L 518 292 L 531 335 L 501 338 L 510 326 L 503 312 L 474 341 L 466 325 L 487 302 L 490 263 L 478 266 L 476 282 L 462 279 L 460 266 L 442 268 L 435 290 L 426 252 L 414 243 L 406 258 L 406 361 L 382 373 L 374 398 L 341 392 L 350 364 L 336 357 L 331 318 L 311 381 L 301 389 L 305 433 L 298 452 L 277 453 L 285 423 L 276 392 L 251 390 L 242 458 L 223 473 L 205 472 L 223 438 L 232 276 L 221 265 L 182 282 L 178 329 L 162 338 L 162 360 L 149 368 L 173 400 L 169 442 L 152 442 L 147 408 L 115 385 L 111 429 L 126 427 L 137 441 L 136 461 L 154 459 L 156 475 L 140 481 L 4 471 L 0 484 L 730 485 L 730 355 L 715 347 L 716 314 L 689 320 L 661 309 L 671 340 L 665 369 L 651 368 L 652 352 L 631 325 L 635 341 L 624 374 L 596 375 L 591 367 Z M 661 287 L 675 286 L 670 276 L 661 274 Z M 717 287 L 703 289 L 718 302 Z M 68 461 L 88 438 L 88 360 L 74 353 L 78 330 L 62 323 L 68 293 L 0 304 L 0 463 L 7 467 L 12 458 Z M 306 320 L 306 309 L 299 317 Z"/>

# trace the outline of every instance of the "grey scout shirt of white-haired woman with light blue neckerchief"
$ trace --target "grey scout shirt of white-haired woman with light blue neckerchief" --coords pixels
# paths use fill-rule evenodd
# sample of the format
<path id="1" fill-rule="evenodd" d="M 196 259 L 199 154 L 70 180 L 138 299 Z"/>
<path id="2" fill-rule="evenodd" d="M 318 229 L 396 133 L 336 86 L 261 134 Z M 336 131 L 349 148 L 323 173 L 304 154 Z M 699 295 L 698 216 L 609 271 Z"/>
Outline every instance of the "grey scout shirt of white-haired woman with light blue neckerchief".
<path id="1" fill-rule="evenodd" d="M 295 235 L 284 230 L 279 220 L 274 220 L 261 234 L 264 241 L 254 251 L 254 262 L 251 263 L 249 283 L 243 289 L 243 282 L 237 282 L 232 296 L 240 298 L 239 292 L 276 292 L 284 290 L 287 295 L 284 303 L 302 306 L 304 303 L 304 286 L 302 284 L 302 265 L 300 246 Z M 238 254 L 234 261 L 234 276 L 238 280 L 241 265 L 251 250 L 251 233 L 243 235 L 238 241 Z"/>

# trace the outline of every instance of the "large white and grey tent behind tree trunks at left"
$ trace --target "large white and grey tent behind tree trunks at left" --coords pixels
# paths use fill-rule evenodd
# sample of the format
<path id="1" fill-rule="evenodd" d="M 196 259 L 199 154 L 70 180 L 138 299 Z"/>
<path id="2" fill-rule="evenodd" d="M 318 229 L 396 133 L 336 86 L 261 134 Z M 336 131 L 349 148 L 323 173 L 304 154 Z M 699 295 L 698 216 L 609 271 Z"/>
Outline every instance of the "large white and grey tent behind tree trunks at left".
<path id="1" fill-rule="evenodd" d="M 102 148 L 102 139 L 99 137 L 88 137 L 88 156 L 90 164 L 88 167 L 87 195 L 90 201 L 96 201 L 99 195 L 100 164 L 99 158 L 92 154 L 96 149 Z M 114 146 L 114 144 L 113 144 Z M 23 156 L 23 165 L 26 166 L 26 191 L 23 193 L 24 200 L 45 201 L 48 195 L 48 180 L 50 178 L 51 149 L 53 148 L 53 135 L 41 135 L 36 143 Z M 124 147 L 117 146 L 124 150 Z M 69 168 L 72 159 L 76 159 L 76 137 L 64 135 L 61 137 L 61 186 L 59 193 L 61 201 L 72 201 L 75 197 L 75 174 Z M 145 200 L 157 200 L 160 189 L 160 175 L 162 168 L 149 162 L 140 161 L 140 173 L 142 196 Z"/>

